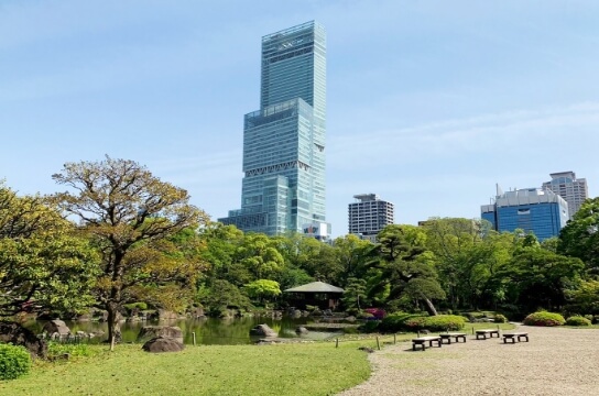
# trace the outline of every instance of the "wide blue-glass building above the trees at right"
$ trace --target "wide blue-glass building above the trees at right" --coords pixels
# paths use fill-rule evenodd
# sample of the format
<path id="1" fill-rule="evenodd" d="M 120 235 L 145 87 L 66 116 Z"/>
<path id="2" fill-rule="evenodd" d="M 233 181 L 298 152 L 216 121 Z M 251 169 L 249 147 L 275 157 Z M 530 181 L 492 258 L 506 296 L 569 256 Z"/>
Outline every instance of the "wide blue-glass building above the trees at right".
<path id="1" fill-rule="evenodd" d="M 481 218 L 499 232 L 522 229 L 540 241 L 557 237 L 568 221 L 568 204 L 557 194 L 541 188 L 503 193 L 498 187 L 494 202 L 480 207 Z"/>

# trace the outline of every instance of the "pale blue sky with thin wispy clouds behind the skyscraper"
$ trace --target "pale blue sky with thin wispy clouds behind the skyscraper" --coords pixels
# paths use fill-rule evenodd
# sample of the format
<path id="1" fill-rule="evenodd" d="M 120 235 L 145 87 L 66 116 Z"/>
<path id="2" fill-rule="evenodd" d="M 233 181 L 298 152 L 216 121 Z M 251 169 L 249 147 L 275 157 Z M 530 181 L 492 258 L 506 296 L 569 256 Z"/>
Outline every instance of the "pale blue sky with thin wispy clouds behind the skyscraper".
<path id="1" fill-rule="evenodd" d="M 0 0 L 0 178 L 134 160 L 213 219 L 240 207 L 262 35 L 327 30 L 327 220 L 353 195 L 395 222 L 480 217 L 498 183 L 574 170 L 598 195 L 593 0 Z"/>

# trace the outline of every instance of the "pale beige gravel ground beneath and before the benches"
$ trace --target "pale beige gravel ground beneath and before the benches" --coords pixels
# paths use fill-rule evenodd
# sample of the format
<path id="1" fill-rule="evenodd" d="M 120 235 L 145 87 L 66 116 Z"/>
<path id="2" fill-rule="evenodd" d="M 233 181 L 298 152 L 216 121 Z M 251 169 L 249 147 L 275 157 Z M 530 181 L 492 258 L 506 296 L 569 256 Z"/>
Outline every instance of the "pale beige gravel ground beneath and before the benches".
<path id="1" fill-rule="evenodd" d="M 369 355 L 372 376 L 355 395 L 599 395 L 599 330 L 519 326 L 530 342 L 497 338 L 412 352 L 412 343 Z"/>

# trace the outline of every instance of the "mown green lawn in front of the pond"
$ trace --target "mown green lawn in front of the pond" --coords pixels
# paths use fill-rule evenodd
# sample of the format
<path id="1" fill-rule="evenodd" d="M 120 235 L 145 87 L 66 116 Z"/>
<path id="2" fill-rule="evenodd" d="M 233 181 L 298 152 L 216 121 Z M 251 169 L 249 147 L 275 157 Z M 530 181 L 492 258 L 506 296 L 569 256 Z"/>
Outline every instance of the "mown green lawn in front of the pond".
<path id="1" fill-rule="evenodd" d="M 151 354 L 139 344 L 37 363 L 0 382 L 0 395 L 331 395 L 370 375 L 360 342 L 187 346 Z"/>

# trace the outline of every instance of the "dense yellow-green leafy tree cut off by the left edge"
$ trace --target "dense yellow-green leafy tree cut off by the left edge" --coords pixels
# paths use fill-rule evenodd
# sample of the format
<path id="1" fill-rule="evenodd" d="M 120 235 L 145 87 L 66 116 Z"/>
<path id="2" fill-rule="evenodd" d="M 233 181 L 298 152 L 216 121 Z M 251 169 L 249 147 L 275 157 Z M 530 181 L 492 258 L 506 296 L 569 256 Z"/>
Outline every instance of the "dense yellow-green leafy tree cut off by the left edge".
<path id="1" fill-rule="evenodd" d="M 0 316 L 89 306 L 97 261 L 57 208 L 0 185 Z"/>

